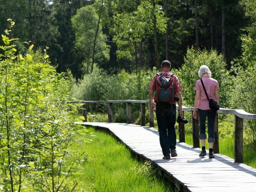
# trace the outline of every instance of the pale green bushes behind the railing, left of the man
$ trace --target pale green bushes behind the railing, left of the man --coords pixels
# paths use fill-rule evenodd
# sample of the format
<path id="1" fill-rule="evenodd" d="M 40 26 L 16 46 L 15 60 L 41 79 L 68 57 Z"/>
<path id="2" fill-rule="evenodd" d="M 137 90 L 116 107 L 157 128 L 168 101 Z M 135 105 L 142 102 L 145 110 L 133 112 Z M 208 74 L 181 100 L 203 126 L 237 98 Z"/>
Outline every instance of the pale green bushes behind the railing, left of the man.
<path id="1" fill-rule="evenodd" d="M 154 74 L 154 70 L 141 68 L 137 73 L 129 74 L 124 70 L 117 75 L 107 75 L 99 68 L 94 68 L 93 72 L 84 75 L 75 85 L 76 92 L 72 97 L 78 100 L 148 100 L 148 85 Z M 106 104 L 87 104 L 88 111 L 108 112 Z M 101 111 L 101 112 L 102 112 Z M 140 105 L 132 105 L 132 122 L 138 122 L 138 113 Z M 126 123 L 126 105 L 125 103 L 113 104 L 114 122 Z M 148 118 L 146 118 L 148 122 Z"/>

